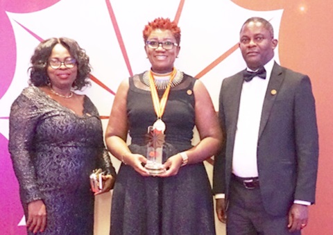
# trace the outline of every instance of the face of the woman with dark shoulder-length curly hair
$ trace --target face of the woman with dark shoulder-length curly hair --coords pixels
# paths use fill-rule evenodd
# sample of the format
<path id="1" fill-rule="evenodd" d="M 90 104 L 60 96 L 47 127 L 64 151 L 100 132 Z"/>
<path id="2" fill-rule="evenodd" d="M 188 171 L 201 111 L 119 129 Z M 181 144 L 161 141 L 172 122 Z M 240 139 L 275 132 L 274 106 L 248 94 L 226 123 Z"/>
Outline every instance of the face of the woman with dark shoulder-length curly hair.
<path id="1" fill-rule="evenodd" d="M 64 62 L 67 58 L 71 58 L 69 51 L 62 44 L 56 44 L 52 49 L 49 61 L 59 60 L 60 62 Z M 47 67 L 47 75 L 50 78 L 52 88 L 58 91 L 70 90 L 74 80 L 76 80 L 77 74 L 78 67 L 76 65 L 71 69 L 65 67 L 63 63 L 58 69 L 52 69 L 51 66 Z"/>

